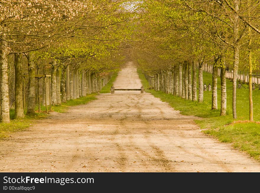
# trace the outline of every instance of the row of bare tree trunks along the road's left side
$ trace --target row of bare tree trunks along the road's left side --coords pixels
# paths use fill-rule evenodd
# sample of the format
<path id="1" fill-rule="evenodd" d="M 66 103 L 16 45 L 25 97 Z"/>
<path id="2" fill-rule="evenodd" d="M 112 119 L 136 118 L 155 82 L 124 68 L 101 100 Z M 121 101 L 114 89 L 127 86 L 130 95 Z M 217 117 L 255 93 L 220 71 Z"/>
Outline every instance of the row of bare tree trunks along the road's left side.
<path id="1" fill-rule="evenodd" d="M 9 47 L 3 40 L 1 40 L 0 46 L 0 122 L 10 123 Z M 26 114 L 31 115 L 35 113 L 36 104 L 38 104 L 40 112 L 41 105 L 51 107 L 51 105 L 66 103 L 67 100 L 86 96 L 89 93 L 100 92 L 111 78 L 111 75 L 101 78 L 90 71 L 70 69 L 70 66 L 57 64 L 54 60 L 51 63 L 50 72 L 45 66 L 40 73 L 40 67 L 35 60 L 35 52 L 28 52 L 24 55 L 27 58 L 28 78 L 27 75 L 22 75 L 22 54 L 13 54 L 14 96 L 12 100 L 14 101 L 15 118 L 24 118 L 26 107 Z M 37 74 L 35 74 L 35 68 L 37 68 Z M 40 76 L 41 74 L 51 74 L 51 77 Z M 26 80 L 28 80 L 27 84 Z M 27 87 L 25 87 L 26 85 Z M 48 112 L 48 109 L 46 110 Z"/>

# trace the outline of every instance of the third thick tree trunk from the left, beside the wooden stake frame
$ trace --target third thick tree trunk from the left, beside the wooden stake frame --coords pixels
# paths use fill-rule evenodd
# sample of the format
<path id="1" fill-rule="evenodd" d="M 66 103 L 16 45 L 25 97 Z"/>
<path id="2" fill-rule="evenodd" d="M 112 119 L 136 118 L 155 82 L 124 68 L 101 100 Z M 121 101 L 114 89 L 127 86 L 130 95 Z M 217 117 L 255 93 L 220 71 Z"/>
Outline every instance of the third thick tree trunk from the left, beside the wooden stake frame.
<path id="1" fill-rule="evenodd" d="M 35 114 L 35 64 L 33 62 L 34 53 L 29 52 L 27 55 L 28 60 L 28 105 L 27 115 Z"/>

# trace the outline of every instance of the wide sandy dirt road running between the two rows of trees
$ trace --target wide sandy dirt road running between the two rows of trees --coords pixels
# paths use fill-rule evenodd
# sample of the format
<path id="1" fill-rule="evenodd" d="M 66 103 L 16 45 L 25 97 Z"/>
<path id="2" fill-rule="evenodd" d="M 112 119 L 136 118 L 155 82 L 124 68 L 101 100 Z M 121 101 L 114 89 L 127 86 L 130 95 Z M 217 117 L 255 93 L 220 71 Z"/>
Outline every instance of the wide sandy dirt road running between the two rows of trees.
<path id="1" fill-rule="evenodd" d="M 140 88 L 129 63 L 115 88 Z M 0 141 L 1 172 L 259 172 L 260 163 L 205 136 L 167 103 L 140 91 L 99 94 Z"/>

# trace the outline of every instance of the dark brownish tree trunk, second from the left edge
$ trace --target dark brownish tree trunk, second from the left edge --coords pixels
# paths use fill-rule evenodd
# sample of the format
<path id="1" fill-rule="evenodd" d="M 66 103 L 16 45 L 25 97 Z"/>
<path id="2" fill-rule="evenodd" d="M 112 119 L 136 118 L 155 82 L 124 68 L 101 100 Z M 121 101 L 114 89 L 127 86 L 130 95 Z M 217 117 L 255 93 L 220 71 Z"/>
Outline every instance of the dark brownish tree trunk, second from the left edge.
<path id="1" fill-rule="evenodd" d="M 22 103 L 22 65 L 20 54 L 14 54 L 15 69 L 15 118 L 24 118 Z"/>

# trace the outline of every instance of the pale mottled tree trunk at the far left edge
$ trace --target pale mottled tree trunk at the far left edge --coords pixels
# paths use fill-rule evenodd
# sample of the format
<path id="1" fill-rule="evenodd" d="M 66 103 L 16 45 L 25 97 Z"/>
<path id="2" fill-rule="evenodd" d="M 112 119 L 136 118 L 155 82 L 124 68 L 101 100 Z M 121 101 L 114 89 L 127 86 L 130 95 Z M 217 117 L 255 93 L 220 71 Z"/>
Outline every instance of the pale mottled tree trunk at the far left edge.
<path id="1" fill-rule="evenodd" d="M 4 37 L 1 37 L 4 38 Z M 1 103 L 0 103 L 0 122 L 10 123 L 10 114 L 9 114 L 9 87 L 8 87 L 8 46 L 5 41 L 0 40 L 0 71 L 1 71 Z"/>

